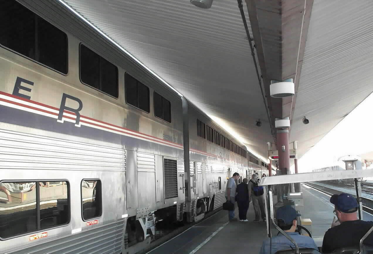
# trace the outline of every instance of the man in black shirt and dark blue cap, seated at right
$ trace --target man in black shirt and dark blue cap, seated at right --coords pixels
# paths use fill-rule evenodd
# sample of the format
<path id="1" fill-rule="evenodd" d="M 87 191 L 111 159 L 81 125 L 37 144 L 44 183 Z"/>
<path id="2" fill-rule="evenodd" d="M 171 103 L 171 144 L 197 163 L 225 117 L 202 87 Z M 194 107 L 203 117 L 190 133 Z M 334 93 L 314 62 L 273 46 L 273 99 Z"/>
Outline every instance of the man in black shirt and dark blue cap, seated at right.
<path id="1" fill-rule="evenodd" d="M 333 213 L 338 220 L 334 217 L 332 228 L 326 231 L 322 251 L 329 253 L 338 248 L 358 247 L 360 239 L 373 226 L 373 222 L 357 219 L 358 203 L 351 194 L 334 194 L 330 197 L 330 203 L 334 204 Z M 373 245 L 373 237 L 368 236 L 364 244 Z"/>

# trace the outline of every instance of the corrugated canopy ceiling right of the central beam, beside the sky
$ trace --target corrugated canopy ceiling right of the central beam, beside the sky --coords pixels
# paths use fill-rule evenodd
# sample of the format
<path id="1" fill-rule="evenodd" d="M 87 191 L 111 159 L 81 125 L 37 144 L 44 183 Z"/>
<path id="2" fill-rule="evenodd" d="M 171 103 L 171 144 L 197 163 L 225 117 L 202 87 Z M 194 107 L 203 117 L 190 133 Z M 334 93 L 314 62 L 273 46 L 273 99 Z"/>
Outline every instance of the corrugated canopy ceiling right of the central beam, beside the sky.
<path id="1" fill-rule="evenodd" d="M 372 13 L 370 0 L 314 0 L 290 133 L 301 155 L 373 91 Z"/>

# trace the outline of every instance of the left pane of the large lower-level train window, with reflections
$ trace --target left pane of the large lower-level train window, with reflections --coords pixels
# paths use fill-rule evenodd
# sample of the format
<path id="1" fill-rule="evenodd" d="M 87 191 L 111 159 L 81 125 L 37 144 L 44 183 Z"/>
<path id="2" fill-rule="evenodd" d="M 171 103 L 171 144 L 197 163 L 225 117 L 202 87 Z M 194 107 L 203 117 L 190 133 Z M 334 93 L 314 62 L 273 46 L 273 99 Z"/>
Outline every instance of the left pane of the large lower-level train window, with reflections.
<path id="1" fill-rule="evenodd" d="M 37 230 L 36 182 L 0 184 L 0 237 Z"/>

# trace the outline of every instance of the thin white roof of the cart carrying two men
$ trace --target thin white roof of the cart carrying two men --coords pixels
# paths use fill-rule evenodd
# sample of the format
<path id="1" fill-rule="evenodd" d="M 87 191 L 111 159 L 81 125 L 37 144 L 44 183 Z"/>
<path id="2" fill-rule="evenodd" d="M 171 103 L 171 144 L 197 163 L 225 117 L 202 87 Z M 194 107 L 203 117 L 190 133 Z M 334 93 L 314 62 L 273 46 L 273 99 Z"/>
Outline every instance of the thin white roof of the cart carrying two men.
<path id="1" fill-rule="evenodd" d="M 311 172 L 292 175 L 276 175 L 263 177 L 259 185 L 287 184 L 292 182 L 329 181 L 338 179 L 373 177 L 373 169 L 364 170 L 335 170 L 327 172 Z"/>

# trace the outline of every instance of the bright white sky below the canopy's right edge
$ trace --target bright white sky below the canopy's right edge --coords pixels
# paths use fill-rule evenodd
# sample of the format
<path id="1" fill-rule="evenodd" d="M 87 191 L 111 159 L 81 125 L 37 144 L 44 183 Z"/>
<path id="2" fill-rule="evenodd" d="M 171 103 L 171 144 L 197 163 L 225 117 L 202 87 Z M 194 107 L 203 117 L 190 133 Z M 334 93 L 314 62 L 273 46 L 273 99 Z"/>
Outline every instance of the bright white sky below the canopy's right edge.
<path id="1" fill-rule="evenodd" d="M 373 93 L 298 159 L 298 172 L 343 165 L 338 158 L 373 152 Z M 363 158 L 364 159 L 364 158 Z M 294 165 L 291 167 L 294 171 Z"/>

